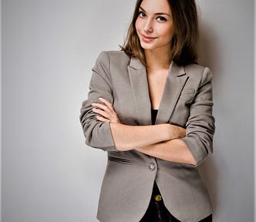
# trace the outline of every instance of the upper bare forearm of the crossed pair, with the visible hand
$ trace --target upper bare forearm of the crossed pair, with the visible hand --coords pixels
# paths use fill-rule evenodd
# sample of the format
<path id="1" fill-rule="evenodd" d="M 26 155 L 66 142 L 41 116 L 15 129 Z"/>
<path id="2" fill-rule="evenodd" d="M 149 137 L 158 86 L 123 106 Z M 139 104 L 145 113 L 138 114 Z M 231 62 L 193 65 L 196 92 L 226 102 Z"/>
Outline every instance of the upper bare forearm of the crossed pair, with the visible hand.
<path id="1" fill-rule="evenodd" d="M 93 103 L 97 109 L 94 113 L 99 114 L 96 118 L 103 122 L 110 122 L 110 129 L 117 150 L 126 151 L 139 147 L 160 143 L 185 136 L 184 128 L 171 124 L 159 124 L 153 126 L 127 126 L 120 120 L 111 103 L 106 99 L 99 98 L 103 103 Z"/>

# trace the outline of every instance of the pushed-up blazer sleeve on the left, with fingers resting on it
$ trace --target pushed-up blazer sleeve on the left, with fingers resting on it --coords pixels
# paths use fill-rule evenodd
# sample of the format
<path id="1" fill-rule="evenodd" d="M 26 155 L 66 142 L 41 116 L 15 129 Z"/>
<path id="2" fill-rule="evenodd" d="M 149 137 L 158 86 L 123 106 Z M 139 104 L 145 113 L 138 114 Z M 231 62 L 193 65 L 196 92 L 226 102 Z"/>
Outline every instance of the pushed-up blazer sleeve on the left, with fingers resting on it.
<path id="1" fill-rule="evenodd" d="M 89 93 L 80 109 L 80 123 L 86 136 L 86 144 L 106 151 L 117 151 L 113 142 L 109 123 L 102 123 L 93 113 L 92 103 L 100 103 L 99 97 L 113 103 L 113 86 L 110 76 L 110 60 L 106 52 L 101 52 L 93 67 L 89 82 Z"/>

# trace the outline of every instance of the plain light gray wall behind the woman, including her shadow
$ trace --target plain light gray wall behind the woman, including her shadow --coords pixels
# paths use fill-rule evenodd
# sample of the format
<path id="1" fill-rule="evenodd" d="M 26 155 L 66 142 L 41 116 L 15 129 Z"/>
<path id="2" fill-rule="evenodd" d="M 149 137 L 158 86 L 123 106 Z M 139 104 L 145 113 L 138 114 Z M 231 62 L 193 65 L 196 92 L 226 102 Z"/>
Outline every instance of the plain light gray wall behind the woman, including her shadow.
<path id="1" fill-rule="evenodd" d="M 254 2 L 198 0 L 214 73 L 216 222 L 254 220 Z M 118 49 L 135 0 L 2 0 L 2 222 L 96 221 L 106 153 L 84 144 L 91 68 Z M 1 138 L 0 138 L 1 139 Z"/>

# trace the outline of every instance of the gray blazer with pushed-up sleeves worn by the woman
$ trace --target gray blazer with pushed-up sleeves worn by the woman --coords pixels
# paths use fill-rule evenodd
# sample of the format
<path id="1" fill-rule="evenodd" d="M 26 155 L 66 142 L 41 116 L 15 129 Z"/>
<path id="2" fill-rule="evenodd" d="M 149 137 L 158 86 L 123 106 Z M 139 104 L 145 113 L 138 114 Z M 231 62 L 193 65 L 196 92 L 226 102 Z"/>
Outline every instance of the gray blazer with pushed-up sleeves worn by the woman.
<path id="1" fill-rule="evenodd" d="M 156 124 L 186 127 L 187 144 L 197 165 L 212 153 L 212 75 L 197 65 L 172 62 Z M 86 144 L 107 151 L 108 162 L 99 197 L 101 222 L 138 222 L 146 212 L 156 180 L 165 206 L 174 217 L 196 222 L 212 213 L 211 200 L 197 167 L 153 158 L 136 150 L 116 150 L 109 123 L 96 120 L 92 103 L 103 97 L 113 103 L 122 123 L 150 125 L 147 72 L 139 59 L 124 52 L 102 52 L 93 68 L 88 99 L 80 120 Z"/>

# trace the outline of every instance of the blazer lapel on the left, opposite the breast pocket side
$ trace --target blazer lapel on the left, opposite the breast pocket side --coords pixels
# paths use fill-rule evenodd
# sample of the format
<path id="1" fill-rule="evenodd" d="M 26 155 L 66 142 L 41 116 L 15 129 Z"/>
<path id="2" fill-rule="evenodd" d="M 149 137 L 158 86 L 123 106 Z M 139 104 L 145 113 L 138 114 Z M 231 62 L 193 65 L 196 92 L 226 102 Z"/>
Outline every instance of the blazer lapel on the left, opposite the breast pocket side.
<path id="1" fill-rule="evenodd" d="M 151 125 L 151 102 L 147 82 L 147 70 L 139 59 L 131 58 L 128 66 L 130 85 L 136 108 L 137 122 L 140 125 Z"/>

